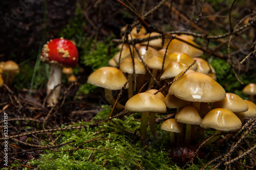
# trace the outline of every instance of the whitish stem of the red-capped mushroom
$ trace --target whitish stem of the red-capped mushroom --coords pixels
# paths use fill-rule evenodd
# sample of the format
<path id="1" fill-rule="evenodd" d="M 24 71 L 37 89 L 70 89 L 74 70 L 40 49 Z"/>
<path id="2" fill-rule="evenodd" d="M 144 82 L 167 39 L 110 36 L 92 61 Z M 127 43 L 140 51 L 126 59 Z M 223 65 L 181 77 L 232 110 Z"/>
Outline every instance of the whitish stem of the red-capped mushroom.
<path id="1" fill-rule="evenodd" d="M 50 64 L 50 67 L 50 75 L 47 83 L 47 103 L 49 106 L 53 106 L 58 102 L 60 95 L 62 70 L 58 64 Z"/>

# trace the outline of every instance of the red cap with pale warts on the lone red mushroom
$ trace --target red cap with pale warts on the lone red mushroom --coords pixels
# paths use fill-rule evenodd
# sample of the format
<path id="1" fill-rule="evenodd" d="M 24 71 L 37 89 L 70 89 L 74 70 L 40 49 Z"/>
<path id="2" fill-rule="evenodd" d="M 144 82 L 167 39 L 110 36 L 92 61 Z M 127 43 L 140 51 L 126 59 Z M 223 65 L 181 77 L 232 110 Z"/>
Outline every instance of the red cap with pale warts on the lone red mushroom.
<path id="1" fill-rule="evenodd" d="M 78 61 L 78 51 L 76 46 L 64 38 L 56 38 L 47 42 L 41 52 L 41 60 L 75 67 Z"/>

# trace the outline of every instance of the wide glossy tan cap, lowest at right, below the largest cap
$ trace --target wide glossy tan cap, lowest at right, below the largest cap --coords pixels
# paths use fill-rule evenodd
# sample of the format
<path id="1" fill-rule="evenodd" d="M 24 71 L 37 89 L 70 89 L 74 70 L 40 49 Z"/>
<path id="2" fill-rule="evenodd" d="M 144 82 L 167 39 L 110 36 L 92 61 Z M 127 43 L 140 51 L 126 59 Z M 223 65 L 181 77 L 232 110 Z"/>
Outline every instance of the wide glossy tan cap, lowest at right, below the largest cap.
<path id="1" fill-rule="evenodd" d="M 200 126 L 220 131 L 234 131 L 241 129 L 241 120 L 228 109 L 216 108 L 209 111 L 201 120 Z"/>

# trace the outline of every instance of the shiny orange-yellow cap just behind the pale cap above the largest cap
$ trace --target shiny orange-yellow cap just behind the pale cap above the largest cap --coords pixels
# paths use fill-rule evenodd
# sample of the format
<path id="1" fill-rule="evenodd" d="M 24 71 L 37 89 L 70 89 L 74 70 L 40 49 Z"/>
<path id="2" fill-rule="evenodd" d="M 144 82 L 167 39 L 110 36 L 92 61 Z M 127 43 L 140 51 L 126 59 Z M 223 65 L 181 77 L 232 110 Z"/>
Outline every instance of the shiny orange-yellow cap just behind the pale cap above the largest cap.
<path id="1" fill-rule="evenodd" d="M 166 67 L 170 62 L 182 62 L 186 65 L 190 65 L 194 62 L 194 59 L 185 53 L 174 52 L 166 56 L 164 61 L 164 67 Z M 197 64 L 194 64 L 193 66 L 191 66 L 191 69 L 196 70 Z"/>

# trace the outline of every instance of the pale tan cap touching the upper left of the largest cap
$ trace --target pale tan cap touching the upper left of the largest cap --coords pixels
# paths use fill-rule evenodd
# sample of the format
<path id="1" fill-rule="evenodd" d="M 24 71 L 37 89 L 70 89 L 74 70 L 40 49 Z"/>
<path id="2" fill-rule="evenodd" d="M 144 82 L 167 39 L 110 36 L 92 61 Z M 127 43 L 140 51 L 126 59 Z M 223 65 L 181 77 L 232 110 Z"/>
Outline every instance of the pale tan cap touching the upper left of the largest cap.
<path id="1" fill-rule="evenodd" d="M 180 72 L 183 72 L 187 69 L 188 65 L 182 63 L 182 62 L 170 62 L 165 70 L 163 71 L 162 76 L 160 77 L 160 80 L 165 80 L 169 78 L 175 78 L 180 74 Z"/>

